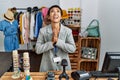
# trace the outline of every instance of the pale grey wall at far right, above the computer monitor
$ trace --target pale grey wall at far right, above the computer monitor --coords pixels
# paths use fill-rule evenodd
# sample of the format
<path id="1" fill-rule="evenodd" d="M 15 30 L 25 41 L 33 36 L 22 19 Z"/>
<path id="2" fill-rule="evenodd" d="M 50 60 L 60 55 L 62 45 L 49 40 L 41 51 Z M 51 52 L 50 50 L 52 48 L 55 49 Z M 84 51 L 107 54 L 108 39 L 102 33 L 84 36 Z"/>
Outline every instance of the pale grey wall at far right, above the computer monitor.
<path id="1" fill-rule="evenodd" d="M 120 51 L 120 0 L 99 0 L 98 16 L 101 27 L 101 59 L 105 52 Z"/>

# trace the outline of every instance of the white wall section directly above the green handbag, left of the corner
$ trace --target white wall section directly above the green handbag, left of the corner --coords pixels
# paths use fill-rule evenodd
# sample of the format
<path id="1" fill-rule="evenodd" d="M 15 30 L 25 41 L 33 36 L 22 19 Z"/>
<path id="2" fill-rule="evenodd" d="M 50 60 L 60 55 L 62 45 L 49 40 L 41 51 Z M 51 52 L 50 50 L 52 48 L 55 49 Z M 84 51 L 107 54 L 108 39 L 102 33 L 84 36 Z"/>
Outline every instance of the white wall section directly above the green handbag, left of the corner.
<path id="1" fill-rule="evenodd" d="M 92 19 L 98 18 L 98 0 L 81 0 L 81 27 L 86 29 Z"/>

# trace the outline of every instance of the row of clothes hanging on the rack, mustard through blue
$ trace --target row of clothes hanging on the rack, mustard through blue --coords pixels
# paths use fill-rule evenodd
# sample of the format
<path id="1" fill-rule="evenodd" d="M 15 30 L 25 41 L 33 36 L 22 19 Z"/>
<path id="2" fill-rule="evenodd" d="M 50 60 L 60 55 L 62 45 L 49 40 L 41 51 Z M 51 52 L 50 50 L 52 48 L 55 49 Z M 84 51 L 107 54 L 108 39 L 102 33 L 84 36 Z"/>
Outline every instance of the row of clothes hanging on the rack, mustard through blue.
<path id="1" fill-rule="evenodd" d="M 22 12 L 18 16 L 20 44 L 28 44 L 32 40 L 36 40 L 39 30 L 43 26 L 42 12 L 35 9 L 32 12 Z"/>

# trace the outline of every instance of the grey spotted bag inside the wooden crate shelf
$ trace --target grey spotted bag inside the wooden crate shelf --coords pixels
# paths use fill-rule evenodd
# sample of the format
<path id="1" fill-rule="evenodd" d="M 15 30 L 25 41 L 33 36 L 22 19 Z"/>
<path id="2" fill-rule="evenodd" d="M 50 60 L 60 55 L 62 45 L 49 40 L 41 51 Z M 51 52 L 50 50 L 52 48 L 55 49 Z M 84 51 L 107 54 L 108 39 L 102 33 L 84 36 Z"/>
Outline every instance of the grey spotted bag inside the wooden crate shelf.
<path id="1" fill-rule="evenodd" d="M 82 47 L 82 58 L 96 59 L 97 48 Z"/>

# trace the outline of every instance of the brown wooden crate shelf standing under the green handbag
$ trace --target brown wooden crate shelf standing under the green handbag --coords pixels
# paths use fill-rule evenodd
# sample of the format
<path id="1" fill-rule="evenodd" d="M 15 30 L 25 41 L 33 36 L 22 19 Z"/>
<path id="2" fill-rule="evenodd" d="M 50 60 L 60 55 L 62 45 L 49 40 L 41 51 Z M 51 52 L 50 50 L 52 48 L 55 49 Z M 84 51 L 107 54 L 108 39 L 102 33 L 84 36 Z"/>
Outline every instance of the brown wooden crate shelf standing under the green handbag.
<path id="1" fill-rule="evenodd" d="M 78 53 L 79 53 L 78 70 L 86 70 L 86 71 L 98 70 L 101 39 L 99 37 L 86 37 L 86 38 L 79 37 L 78 41 L 79 41 L 78 42 Z M 81 56 L 82 47 L 96 48 L 97 49 L 96 59 L 82 58 Z"/>

